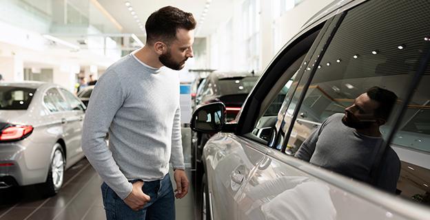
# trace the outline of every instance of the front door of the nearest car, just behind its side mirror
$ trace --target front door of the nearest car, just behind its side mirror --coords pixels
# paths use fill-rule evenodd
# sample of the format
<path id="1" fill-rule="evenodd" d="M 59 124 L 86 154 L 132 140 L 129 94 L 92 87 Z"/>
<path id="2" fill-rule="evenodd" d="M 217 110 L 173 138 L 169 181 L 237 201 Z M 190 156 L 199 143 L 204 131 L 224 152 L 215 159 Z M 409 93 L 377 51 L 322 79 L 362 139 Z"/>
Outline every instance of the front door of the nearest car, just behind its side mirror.
<path id="1" fill-rule="evenodd" d="M 292 84 L 300 65 L 309 51 L 312 43 L 318 36 L 318 32 L 323 25 L 314 27 L 305 34 L 305 39 L 296 39 L 294 45 L 286 47 L 281 53 L 282 62 L 272 63 L 267 70 L 267 76 L 264 74 L 258 80 L 256 88 L 260 92 L 275 94 L 272 100 L 263 101 L 263 105 L 269 105 L 269 111 L 264 115 L 265 120 L 260 120 L 254 129 L 250 129 L 247 134 L 240 134 L 242 131 L 232 133 L 218 133 L 212 137 L 204 148 L 205 170 L 209 188 L 209 202 L 213 219 L 237 219 L 243 217 L 239 213 L 238 207 L 243 198 L 243 190 L 247 185 L 249 177 L 254 176 L 254 172 L 264 161 L 267 153 L 267 144 L 272 134 L 272 127 L 277 118 L 283 118 L 287 110 L 285 96 Z M 285 76 L 283 76 L 285 75 Z M 282 76 L 282 77 L 280 77 Z M 269 82 L 271 85 L 269 85 Z M 294 91 L 294 89 L 292 89 Z M 251 92 L 252 94 L 253 92 Z M 260 96 L 260 94 L 257 94 Z M 289 95 L 291 96 L 291 95 Z M 250 96 L 248 97 L 249 100 Z M 264 98 L 264 97 L 263 97 Z M 284 102 L 283 102 L 284 101 Z M 249 103 L 249 102 L 245 102 Z M 271 104 L 272 103 L 272 104 Z M 247 122 L 245 116 L 258 113 L 258 109 L 249 107 L 249 111 L 242 112 L 239 116 L 242 122 Z M 263 115 L 263 113 L 261 113 Z M 240 126 L 238 122 L 238 126 Z M 254 126 L 254 125 L 252 125 Z M 270 128 L 267 133 L 267 127 Z"/>

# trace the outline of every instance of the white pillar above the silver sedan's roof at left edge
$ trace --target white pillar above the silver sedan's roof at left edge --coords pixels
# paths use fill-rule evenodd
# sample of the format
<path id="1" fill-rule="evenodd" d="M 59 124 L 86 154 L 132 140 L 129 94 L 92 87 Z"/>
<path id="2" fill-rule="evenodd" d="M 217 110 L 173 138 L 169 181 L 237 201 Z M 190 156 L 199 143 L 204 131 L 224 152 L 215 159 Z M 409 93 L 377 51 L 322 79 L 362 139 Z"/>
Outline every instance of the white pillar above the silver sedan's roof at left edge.
<path id="1" fill-rule="evenodd" d="M 24 63 L 18 56 L 0 56 L 0 74 L 3 80 L 20 82 L 24 80 Z"/>

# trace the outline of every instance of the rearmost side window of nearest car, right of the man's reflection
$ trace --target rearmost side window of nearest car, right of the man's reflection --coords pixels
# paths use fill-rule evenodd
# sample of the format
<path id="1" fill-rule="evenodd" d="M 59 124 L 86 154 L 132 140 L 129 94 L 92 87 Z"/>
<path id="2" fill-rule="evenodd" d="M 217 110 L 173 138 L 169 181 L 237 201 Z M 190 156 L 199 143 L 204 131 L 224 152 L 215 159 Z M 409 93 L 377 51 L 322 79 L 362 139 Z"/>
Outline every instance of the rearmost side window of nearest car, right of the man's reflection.
<path id="1" fill-rule="evenodd" d="M 422 76 L 391 147 L 402 161 L 397 189 L 400 197 L 430 205 L 430 68 Z"/>

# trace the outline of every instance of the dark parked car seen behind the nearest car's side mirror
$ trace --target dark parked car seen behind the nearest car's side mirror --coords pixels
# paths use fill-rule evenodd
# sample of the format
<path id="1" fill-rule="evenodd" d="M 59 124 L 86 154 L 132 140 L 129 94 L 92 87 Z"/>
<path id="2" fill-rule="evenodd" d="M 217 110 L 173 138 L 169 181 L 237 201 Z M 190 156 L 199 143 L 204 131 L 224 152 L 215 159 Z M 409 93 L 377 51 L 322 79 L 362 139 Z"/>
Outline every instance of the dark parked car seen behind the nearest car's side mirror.
<path id="1" fill-rule="evenodd" d="M 223 102 L 227 106 L 226 120 L 232 121 L 236 118 L 257 79 L 258 76 L 250 73 L 212 72 L 198 86 L 195 106 Z M 203 146 L 212 135 L 211 133 L 192 132 L 192 168 L 196 168 L 195 178 L 198 180 L 203 175 L 203 164 L 201 164 Z M 200 182 L 198 181 L 196 184 L 200 184 Z"/>

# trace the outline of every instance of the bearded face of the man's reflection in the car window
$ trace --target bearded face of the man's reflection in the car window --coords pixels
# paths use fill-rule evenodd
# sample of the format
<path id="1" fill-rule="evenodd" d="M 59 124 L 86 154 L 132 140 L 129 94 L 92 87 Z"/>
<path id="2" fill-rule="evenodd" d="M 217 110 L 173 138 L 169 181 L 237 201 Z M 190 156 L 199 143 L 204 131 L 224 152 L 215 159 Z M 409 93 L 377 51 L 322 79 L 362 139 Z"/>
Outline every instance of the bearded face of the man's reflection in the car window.
<path id="1" fill-rule="evenodd" d="M 354 129 L 368 129 L 375 126 L 377 118 L 374 113 L 378 106 L 378 102 L 371 100 L 366 93 L 361 94 L 350 107 L 345 109 L 342 122 Z"/>

